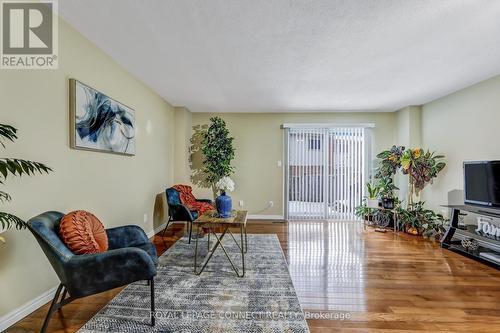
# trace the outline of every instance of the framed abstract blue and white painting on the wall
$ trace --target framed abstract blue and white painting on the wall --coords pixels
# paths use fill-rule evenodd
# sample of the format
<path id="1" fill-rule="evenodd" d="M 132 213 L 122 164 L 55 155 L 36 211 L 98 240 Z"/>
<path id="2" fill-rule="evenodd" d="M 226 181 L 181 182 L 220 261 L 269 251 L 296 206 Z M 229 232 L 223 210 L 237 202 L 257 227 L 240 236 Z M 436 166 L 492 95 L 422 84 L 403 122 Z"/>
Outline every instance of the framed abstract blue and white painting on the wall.
<path id="1" fill-rule="evenodd" d="M 71 147 L 135 155 L 135 112 L 80 81 L 70 80 Z"/>

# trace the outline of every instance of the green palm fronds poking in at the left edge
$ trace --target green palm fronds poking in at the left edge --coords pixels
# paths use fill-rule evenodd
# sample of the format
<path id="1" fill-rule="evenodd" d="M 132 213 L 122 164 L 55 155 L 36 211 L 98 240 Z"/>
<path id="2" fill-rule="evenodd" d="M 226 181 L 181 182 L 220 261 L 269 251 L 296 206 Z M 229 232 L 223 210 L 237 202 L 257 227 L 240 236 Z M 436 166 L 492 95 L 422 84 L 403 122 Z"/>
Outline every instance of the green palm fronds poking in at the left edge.
<path id="1" fill-rule="evenodd" d="M 16 133 L 16 128 L 0 124 L 0 145 L 5 148 L 6 141 L 13 142 L 17 139 Z M 0 158 L 0 185 L 5 183 L 9 175 L 19 177 L 23 175 L 32 176 L 35 173 L 49 173 L 49 171 L 52 171 L 52 169 L 39 162 L 2 157 Z M 7 192 L 0 190 L 0 203 L 10 201 L 11 199 L 11 196 Z M 13 214 L 0 211 L 0 231 L 5 231 L 12 227 L 22 229 L 26 227 L 26 223 Z M 5 240 L 0 237 L 0 241 L 4 242 Z"/>

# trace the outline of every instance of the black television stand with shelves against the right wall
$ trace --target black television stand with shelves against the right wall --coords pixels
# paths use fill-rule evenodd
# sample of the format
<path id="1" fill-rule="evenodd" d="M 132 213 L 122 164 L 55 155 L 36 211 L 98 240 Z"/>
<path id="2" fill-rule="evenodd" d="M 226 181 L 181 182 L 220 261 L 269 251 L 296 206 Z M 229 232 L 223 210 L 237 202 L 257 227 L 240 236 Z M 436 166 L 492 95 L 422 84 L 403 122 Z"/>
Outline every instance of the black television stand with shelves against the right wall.
<path id="1" fill-rule="evenodd" d="M 453 210 L 451 223 L 446 233 L 441 238 L 441 247 L 460 253 L 476 261 L 480 261 L 489 266 L 500 269 L 500 262 L 494 259 L 486 258 L 480 256 L 480 253 L 493 253 L 500 255 L 500 237 L 495 237 L 492 235 L 487 235 L 481 231 L 476 231 L 477 223 L 473 225 L 466 225 L 465 228 L 460 228 L 458 225 L 458 216 L 460 212 L 469 212 L 481 216 L 500 218 L 500 211 L 495 209 L 489 209 L 484 207 L 476 207 L 469 205 L 450 205 L 443 206 L 446 208 L 451 208 Z M 500 227 L 500 225 L 498 226 Z M 461 244 L 463 239 L 475 239 L 479 243 L 479 249 L 477 251 L 471 252 L 467 251 Z"/>

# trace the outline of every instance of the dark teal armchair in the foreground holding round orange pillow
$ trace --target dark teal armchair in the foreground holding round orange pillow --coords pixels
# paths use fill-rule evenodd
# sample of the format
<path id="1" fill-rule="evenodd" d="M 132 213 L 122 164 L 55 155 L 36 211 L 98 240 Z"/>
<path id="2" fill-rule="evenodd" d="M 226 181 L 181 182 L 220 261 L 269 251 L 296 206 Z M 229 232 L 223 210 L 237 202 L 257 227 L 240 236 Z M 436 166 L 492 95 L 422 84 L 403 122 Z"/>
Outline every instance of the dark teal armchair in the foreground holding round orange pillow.
<path id="1" fill-rule="evenodd" d="M 154 326 L 154 276 L 158 256 L 144 231 L 134 225 L 107 229 L 108 251 L 75 255 L 59 238 L 63 216 L 60 212 L 46 212 L 28 221 L 29 230 L 61 281 L 40 332 L 45 332 L 56 310 L 73 300 L 141 280 L 148 281 L 151 288 L 151 325 Z"/>

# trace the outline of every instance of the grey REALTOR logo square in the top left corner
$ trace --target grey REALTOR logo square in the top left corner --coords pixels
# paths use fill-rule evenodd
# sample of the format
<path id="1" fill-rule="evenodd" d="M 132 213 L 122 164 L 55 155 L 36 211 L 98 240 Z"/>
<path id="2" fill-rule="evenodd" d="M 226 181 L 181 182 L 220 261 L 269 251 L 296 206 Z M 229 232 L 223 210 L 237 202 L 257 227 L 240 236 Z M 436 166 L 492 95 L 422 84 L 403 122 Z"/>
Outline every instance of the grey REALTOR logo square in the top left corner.
<path id="1" fill-rule="evenodd" d="M 57 3 L 1 3 L 3 69 L 57 69 Z"/>

